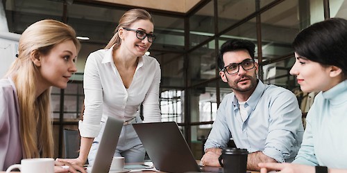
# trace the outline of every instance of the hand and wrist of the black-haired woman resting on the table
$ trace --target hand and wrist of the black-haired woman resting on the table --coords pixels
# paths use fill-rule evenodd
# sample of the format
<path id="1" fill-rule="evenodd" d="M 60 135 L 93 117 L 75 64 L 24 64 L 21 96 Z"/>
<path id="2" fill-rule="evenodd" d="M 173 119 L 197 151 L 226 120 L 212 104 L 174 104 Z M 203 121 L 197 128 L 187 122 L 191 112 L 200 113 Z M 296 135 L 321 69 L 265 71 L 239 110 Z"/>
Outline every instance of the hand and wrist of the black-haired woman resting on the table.
<path id="1" fill-rule="evenodd" d="M 259 163 L 258 166 L 261 168 L 260 173 L 266 173 L 271 170 L 277 170 L 280 173 L 314 173 L 315 169 L 313 166 L 299 165 L 293 163 Z"/>

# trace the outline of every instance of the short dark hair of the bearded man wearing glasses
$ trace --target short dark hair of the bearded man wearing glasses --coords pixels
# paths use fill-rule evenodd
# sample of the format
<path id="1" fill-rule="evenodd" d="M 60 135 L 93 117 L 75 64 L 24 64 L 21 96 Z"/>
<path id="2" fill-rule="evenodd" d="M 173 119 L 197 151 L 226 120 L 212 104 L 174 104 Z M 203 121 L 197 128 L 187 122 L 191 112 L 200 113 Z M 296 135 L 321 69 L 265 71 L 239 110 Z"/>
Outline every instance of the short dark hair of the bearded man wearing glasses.
<path id="1" fill-rule="evenodd" d="M 255 45 L 253 42 L 248 41 L 246 39 L 230 39 L 221 45 L 218 55 L 218 66 L 219 69 L 224 68 L 223 54 L 229 51 L 239 51 L 239 50 L 247 50 L 249 55 L 251 55 L 252 59 L 254 59 L 255 53 Z"/>

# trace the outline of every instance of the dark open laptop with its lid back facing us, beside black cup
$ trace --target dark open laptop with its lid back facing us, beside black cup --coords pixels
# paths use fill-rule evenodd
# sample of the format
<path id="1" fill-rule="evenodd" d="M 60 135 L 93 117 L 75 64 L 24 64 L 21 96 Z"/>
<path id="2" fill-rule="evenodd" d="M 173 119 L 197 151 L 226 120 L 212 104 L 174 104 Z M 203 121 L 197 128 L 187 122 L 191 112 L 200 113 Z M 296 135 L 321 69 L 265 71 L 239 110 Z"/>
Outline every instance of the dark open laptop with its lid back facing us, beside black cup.
<path id="1" fill-rule="evenodd" d="M 201 172 L 176 122 L 139 123 L 133 127 L 157 170 Z"/>

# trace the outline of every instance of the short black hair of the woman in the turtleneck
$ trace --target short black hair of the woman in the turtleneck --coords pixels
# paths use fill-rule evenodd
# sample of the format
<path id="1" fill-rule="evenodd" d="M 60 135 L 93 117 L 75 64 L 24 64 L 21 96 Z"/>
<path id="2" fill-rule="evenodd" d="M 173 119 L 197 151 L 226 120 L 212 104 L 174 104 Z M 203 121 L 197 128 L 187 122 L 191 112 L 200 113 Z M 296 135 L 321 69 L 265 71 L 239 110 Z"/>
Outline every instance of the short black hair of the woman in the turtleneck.
<path id="1" fill-rule="evenodd" d="M 302 30 L 292 44 L 294 51 L 321 65 L 332 65 L 347 73 L 347 20 L 326 19 Z"/>

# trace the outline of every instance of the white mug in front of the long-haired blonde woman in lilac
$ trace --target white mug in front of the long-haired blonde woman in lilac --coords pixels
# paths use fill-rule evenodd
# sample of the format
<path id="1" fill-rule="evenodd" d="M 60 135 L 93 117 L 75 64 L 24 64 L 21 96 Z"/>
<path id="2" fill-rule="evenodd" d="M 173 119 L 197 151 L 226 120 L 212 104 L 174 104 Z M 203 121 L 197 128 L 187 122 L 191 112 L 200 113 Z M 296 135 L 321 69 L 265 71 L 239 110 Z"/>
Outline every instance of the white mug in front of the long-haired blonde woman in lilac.
<path id="1" fill-rule="evenodd" d="M 22 173 L 53 173 L 54 159 L 53 158 L 25 158 L 21 164 L 10 165 L 6 173 L 13 169 L 19 169 Z"/>

